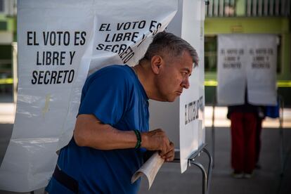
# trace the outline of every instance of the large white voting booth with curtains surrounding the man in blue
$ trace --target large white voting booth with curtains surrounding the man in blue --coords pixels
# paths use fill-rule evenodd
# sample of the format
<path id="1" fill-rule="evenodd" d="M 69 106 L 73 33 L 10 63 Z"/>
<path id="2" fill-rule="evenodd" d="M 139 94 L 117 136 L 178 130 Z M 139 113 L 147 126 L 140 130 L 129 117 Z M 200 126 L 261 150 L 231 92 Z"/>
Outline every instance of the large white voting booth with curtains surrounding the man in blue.
<path id="1" fill-rule="evenodd" d="M 175 103 L 150 101 L 150 129 L 169 134 L 184 172 L 205 143 L 204 11 L 204 0 L 18 1 L 18 101 L 0 189 L 44 188 L 56 151 L 72 138 L 86 77 L 107 65 L 136 65 L 163 30 L 186 39 L 200 59 Z"/>

